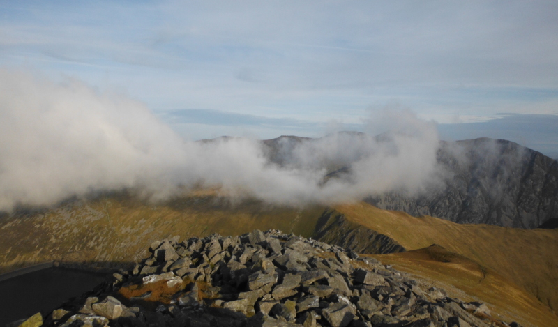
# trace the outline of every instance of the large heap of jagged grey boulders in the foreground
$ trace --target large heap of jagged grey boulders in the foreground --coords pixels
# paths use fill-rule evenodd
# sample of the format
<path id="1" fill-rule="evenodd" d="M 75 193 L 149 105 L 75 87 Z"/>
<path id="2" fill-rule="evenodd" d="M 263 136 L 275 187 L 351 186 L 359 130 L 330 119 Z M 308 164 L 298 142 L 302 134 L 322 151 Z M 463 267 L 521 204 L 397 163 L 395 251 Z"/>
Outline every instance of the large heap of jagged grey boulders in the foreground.
<path id="1" fill-rule="evenodd" d="M 510 326 L 352 250 L 280 231 L 151 244 L 45 326 Z M 513 323 L 515 324 L 515 323 Z M 518 326 L 518 325 L 515 325 Z"/>

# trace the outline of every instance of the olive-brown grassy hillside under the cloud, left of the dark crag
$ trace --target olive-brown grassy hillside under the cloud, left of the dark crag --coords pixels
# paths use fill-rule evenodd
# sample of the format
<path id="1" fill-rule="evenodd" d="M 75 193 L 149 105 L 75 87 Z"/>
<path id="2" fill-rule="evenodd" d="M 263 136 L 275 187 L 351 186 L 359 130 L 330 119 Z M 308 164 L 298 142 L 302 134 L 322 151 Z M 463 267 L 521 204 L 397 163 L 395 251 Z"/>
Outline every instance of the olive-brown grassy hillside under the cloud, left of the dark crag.
<path id="1" fill-rule="evenodd" d="M 135 261 L 152 241 L 175 235 L 184 239 L 276 228 L 309 237 L 323 210 L 278 208 L 258 201 L 233 206 L 213 195 L 158 206 L 123 195 L 77 201 L 44 213 L 2 218 L 0 273 L 51 260 Z"/>

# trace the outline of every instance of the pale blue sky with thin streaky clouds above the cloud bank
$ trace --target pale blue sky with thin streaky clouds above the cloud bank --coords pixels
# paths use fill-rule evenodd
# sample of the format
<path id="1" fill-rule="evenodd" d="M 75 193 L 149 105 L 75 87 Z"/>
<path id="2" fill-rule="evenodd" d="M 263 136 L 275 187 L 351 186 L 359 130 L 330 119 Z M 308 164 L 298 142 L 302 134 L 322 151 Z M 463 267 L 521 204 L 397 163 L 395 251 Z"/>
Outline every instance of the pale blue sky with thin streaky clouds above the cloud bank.
<path id="1" fill-rule="evenodd" d="M 126 96 L 186 139 L 373 134 L 402 108 L 442 139 L 558 158 L 557 15 L 556 1 L 1 1 L 0 68 Z"/>

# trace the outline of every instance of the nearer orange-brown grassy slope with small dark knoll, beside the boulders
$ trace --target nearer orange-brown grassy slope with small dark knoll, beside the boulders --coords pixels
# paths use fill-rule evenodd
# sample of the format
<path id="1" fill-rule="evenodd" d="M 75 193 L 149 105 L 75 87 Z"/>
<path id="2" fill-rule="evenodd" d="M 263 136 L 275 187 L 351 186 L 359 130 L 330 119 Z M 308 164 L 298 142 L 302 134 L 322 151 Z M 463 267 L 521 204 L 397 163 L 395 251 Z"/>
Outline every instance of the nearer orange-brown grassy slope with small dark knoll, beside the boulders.
<path id="1" fill-rule="evenodd" d="M 522 326 L 558 326 L 558 317 L 525 290 L 490 268 L 432 246 L 410 252 L 375 255 L 383 264 L 434 280 L 433 286 L 465 301 L 488 303 L 492 317 Z"/>

